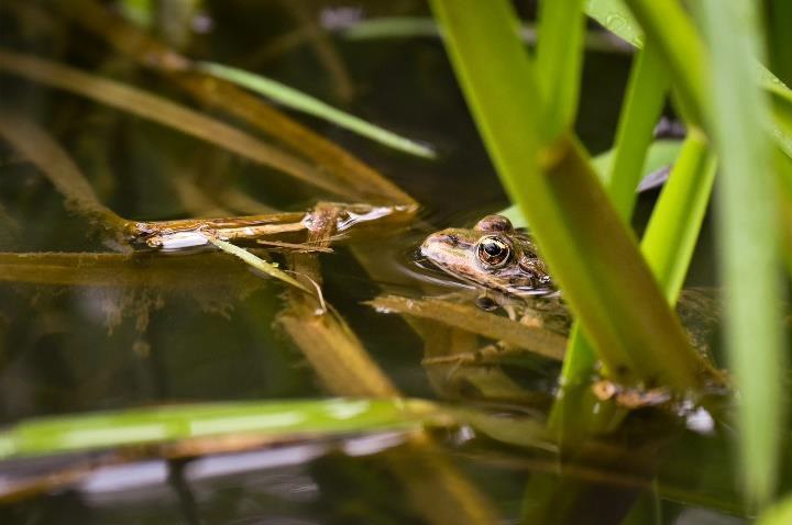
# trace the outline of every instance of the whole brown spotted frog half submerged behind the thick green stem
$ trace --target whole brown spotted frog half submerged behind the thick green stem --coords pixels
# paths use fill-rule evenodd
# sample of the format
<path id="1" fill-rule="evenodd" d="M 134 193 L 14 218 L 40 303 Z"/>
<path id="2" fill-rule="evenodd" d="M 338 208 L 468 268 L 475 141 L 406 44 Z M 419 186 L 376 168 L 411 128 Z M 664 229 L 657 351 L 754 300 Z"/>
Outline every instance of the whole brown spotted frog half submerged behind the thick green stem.
<path id="1" fill-rule="evenodd" d="M 529 233 L 515 228 L 507 217 L 486 215 L 472 228 L 452 227 L 435 232 L 426 237 L 419 252 L 435 268 L 479 289 L 476 304 L 480 308 L 503 308 L 513 321 L 569 335 L 571 315 L 539 247 Z M 684 290 L 676 310 L 693 347 L 712 361 L 710 344 L 719 319 L 716 292 L 710 289 Z M 453 361 L 471 365 L 481 362 L 482 356 L 503 356 L 514 350 L 496 343 L 480 350 L 476 356 L 433 358 L 429 364 Z M 595 383 L 594 393 L 601 399 L 624 399 L 624 404 L 631 407 L 668 401 L 666 392 L 638 392 L 608 381 Z"/>

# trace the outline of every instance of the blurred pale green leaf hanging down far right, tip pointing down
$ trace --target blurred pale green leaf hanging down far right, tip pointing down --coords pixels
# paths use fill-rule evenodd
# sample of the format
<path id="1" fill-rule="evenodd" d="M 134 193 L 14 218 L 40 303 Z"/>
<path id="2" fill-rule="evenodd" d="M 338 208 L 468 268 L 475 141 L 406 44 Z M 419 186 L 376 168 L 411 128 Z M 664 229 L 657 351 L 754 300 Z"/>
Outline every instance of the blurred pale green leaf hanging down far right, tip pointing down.
<path id="1" fill-rule="evenodd" d="M 751 81 L 761 31 L 750 0 L 702 0 L 698 8 L 712 53 L 708 82 L 718 87 L 708 93 L 707 120 L 722 165 L 718 232 L 726 348 L 740 391 L 740 472 L 746 495 L 762 505 L 778 474 L 784 346 L 774 163 L 762 135 L 770 103 Z"/>

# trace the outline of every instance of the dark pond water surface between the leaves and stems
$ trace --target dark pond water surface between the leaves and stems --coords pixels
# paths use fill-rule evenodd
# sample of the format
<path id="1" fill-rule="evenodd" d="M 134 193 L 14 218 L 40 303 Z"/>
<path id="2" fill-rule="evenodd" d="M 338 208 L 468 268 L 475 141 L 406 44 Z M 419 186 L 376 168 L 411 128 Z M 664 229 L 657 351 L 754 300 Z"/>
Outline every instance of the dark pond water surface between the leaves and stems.
<path id="1" fill-rule="evenodd" d="M 353 97 L 344 101 L 310 40 L 295 37 L 292 44 L 273 47 L 285 42 L 284 35 L 305 29 L 300 13 L 316 20 L 321 13 L 342 14 L 343 5 L 290 3 L 206 2 L 200 22 L 211 21 L 211 30 L 194 34 L 182 52 L 263 72 L 438 148 L 438 161 L 415 159 L 321 121 L 293 115 L 420 202 L 420 221 L 408 232 L 358 246 L 376 254 L 378 279 L 367 277 L 348 248 L 321 261 L 326 298 L 376 362 L 406 395 L 437 399 L 420 365 L 420 337 L 398 316 L 380 314 L 361 301 L 382 290 L 421 293 L 419 272 L 408 266 L 408 254 L 426 233 L 470 224 L 504 208 L 507 200 L 438 40 L 331 37 L 351 79 Z M 371 2 L 352 12 L 427 14 L 421 2 L 410 1 Z M 167 80 L 68 22 L 50 2 L 3 2 L 0 35 L 3 47 L 195 105 Z M 593 153 L 612 142 L 628 67 L 629 56 L 624 54 L 586 56 L 578 130 Z M 100 200 L 125 217 L 190 216 L 194 211 L 182 199 L 175 178 L 208 189 L 205 198 L 233 188 L 280 210 L 304 210 L 329 197 L 219 147 L 62 90 L 2 71 L 0 90 L 0 103 L 46 129 L 86 174 Z M 644 204 L 650 205 L 651 198 L 642 198 Z M 52 183 L 4 142 L 0 205 L 6 223 L 2 252 L 108 249 L 101 237 L 88 235 L 86 221 L 69 213 Z M 713 272 L 704 254 L 692 280 L 711 284 Z M 324 396 L 295 346 L 273 326 L 282 292 L 279 284 L 263 282 L 239 267 L 229 269 L 228 281 L 195 279 L 174 289 L 131 286 L 122 276 L 102 286 L 3 282 L 0 423 L 164 402 Z M 557 369 L 539 368 L 507 372 L 517 381 L 543 386 L 539 393 L 547 396 Z M 515 409 L 520 413 L 524 407 L 508 406 Z M 732 431 L 722 416 L 716 413 L 712 421 L 702 413 L 685 422 L 637 413 L 606 440 L 608 451 L 569 458 L 468 431 L 439 433 L 440 446 L 429 453 L 414 449 L 400 436 L 371 436 L 369 448 L 355 448 L 352 438 L 316 439 L 184 465 L 152 459 L 100 469 L 79 483 L 6 504 L 0 516 L 7 517 L 2 523 L 20 524 L 430 523 L 410 496 L 409 489 L 418 484 L 420 490 L 420 480 L 406 487 L 386 468 L 388 461 L 408 463 L 429 454 L 459 469 L 491 501 L 501 523 L 518 523 L 521 515 L 532 516 L 526 523 L 744 523 L 726 439 Z M 0 481 L 3 472 L 47 471 L 69 460 L 0 463 Z"/>

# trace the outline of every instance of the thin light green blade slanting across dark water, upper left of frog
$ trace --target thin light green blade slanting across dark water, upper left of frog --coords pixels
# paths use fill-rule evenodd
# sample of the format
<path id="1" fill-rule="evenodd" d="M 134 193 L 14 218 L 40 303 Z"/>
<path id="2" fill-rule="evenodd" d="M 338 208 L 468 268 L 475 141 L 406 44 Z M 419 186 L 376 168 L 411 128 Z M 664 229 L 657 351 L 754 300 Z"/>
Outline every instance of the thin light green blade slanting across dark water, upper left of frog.
<path id="1" fill-rule="evenodd" d="M 287 108 L 323 119 L 340 127 L 358 133 L 359 135 L 371 138 L 372 141 L 378 142 L 380 144 L 384 144 L 394 149 L 418 157 L 436 157 L 435 152 L 426 145 L 418 144 L 415 141 L 410 141 L 409 138 L 405 138 L 377 125 L 371 124 L 363 119 L 338 110 L 319 99 L 271 78 L 210 62 L 196 63 L 196 67 L 208 75 L 250 89 L 251 91 L 284 104 Z"/>

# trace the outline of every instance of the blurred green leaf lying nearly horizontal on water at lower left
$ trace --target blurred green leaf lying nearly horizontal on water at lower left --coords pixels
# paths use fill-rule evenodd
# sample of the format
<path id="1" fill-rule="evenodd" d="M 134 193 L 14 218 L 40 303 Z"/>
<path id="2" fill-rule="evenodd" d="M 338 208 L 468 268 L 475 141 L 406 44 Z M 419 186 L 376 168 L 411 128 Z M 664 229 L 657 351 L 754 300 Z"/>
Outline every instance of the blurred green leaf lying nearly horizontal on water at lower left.
<path id="1" fill-rule="evenodd" d="M 289 436 L 420 428 L 433 405 L 413 400 L 206 403 L 29 420 L 0 432 L 0 459 L 231 434 Z"/>

